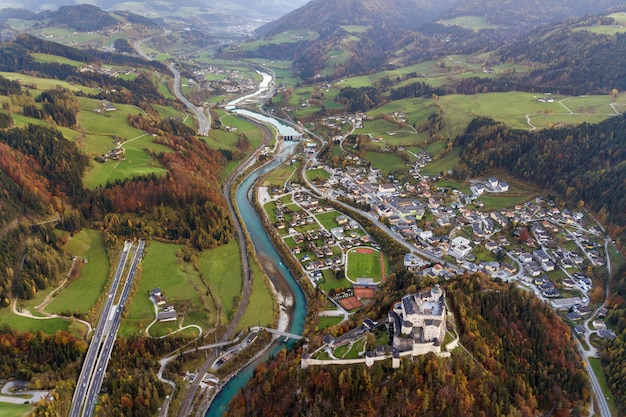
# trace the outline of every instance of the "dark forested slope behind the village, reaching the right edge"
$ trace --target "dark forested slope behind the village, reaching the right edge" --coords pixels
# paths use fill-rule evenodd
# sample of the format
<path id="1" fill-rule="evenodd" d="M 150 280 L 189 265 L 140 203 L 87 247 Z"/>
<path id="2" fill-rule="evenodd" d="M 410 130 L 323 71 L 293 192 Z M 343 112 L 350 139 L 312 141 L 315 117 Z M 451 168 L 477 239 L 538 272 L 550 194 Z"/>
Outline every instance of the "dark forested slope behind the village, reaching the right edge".
<path id="1" fill-rule="evenodd" d="M 626 117 L 599 124 L 528 132 L 503 123 L 474 119 L 455 139 L 461 146 L 458 178 L 507 171 L 597 213 L 611 236 L 626 235 Z M 620 243 L 621 244 L 621 243 Z"/>

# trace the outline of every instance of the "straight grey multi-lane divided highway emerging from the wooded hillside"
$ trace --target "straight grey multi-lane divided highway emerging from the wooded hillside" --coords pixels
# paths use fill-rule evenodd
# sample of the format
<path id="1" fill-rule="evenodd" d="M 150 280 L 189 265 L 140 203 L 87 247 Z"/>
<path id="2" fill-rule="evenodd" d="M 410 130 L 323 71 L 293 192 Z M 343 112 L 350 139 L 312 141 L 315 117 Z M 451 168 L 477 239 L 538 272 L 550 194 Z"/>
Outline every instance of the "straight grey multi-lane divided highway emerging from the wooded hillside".
<path id="1" fill-rule="evenodd" d="M 134 248 L 134 244 L 130 241 L 124 244 L 120 261 L 107 295 L 107 300 L 100 315 L 100 319 L 98 320 L 94 336 L 89 344 L 85 362 L 83 363 L 83 368 L 78 378 L 76 390 L 72 398 L 72 406 L 70 407 L 70 417 L 91 416 L 95 410 L 106 367 L 109 363 L 115 338 L 117 337 L 117 331 L 120 327 L 122 309 L 128 298 L 135 273 L 137 272 L 137 266 L 143 255 L 144 247 L 145 242 L 143 240 L 139 241 L 136 248 Z M 122 279 L 122 274 L 124 273 L 128 256 L 133 251 L 133 248 L 133 261 L 128 275 L 126 276 L 118 304 L 114 305 L 113 303 Z"/>

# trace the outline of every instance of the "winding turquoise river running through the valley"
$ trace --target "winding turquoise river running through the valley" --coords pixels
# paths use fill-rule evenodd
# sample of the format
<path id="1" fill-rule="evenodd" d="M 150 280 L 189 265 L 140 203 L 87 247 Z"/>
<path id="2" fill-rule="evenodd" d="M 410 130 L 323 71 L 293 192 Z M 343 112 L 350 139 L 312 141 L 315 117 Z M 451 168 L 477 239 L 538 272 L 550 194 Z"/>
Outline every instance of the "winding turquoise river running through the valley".
<path id="1" fill-rule="evenodd" d="M 261 74 L 263 75 L 263 80 L 265 81 L 267 74 Z M 265 89 L 267 89 L 269 82 L 264 84 Z M 253 95 L 256 94 L 259 94 L 259 91 L 257 91 Z M 246 98 L 249 98 L 250 96 L 247 96 Z M 243 99 L 245 100 L 246 98 Z M 236 102 L 231 102 L 230 105 L 234 107 L 236 103 L 240 101 L 242 100 L 239 99 Z M 264 123 L 271 124 L 281 135 L 294 135 L 294 132 L 296 132 L 295 129 L 291 126 L 287 126 L 274 118 L 262 114 L 254 113 L 249 110 L 234 108 L 232 109 L 232 111 L 256 120 L 260 120 Z M 295 134 L 297 134 L 297 132 Z M 272 241 L 265 232 L 265 229 L 263 228 L 263 223 L 261 222 L 259 215 L 257 214 L 254 207 L 252 206 L 252 203 L 250 202 L 250 199 L 252 197 L 253 185 L 256 179 L 260 176 L 263 176 L 267 172 L 275 169 L 283 161 L 285 161 L 286 158 L 289 158 L 293 154 L 296 144 L 297 142 L 284 142 L 284 146 L 281 149 L 280 154 L 277 155 L 272 162 L 252 172 L 252 174 L 250 174 L 237 189 L 236 202 L 237 207 L 239 208 L 239 212 L 241 213 L 241 217 L 244 220 L 246 229 L 248 230 L 248 234 L 250 235 L 250 239 L 254 244 L 254 250 L 257 254 L 257 257 L 259 259 L 263 259 L 264 269 L 268 271 L 270 279 L 275 282 L 275 287 L 277 288 L 284 287 L 284 284 L 280 285 L 281 283 L 277 281 L 281 278 L 277 277 L 276 274 L 280 274 L 283 281 L 288 285 L 291 296 L 293 297 L 291 321 L 289 323 L 289 329 L 287 331 L 294 334 L 302 334 L 306 317 L 306 299 L 304 297 L 304 293 L 302 292 L 302 289 L 296 282 L 291 272 L 289 272 L 289 270 L 285 266 L 278 252 L 274 249 L 274 245 L 272 244 Z M 234 376 L 215 397 L 215 399 L 211 403 L 211 406 L 207 410 L 205 417 L 217 417 L 224 414 L 228 403 L 252 377 L 252 373 L 256 366 L 260 362 L 267 360 L 270 356 L 275 356 L 283 348 L 284 345 L 282 343 L 275 344 L 272 348 L 268 350 L 266 354 L 262 355 L 259 359 L 248 365 L 236 376 Z"/>

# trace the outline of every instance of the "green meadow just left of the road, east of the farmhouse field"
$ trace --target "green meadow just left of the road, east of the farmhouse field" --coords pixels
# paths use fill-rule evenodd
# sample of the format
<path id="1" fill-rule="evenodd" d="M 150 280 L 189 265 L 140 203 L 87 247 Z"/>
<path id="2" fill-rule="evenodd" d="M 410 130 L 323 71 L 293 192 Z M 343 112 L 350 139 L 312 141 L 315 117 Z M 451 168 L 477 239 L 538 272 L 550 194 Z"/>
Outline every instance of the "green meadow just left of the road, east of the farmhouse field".
<path id="1" fill-rule="evenodd" d="M 203 251 L 198 257 L 198 268 L 206 277 L 209 288 L 219 297 L 222 323 L 226 323 L 236 308 L 235 300 L 243 288 L 239 245 L 233 241 L 212 250 Z"/>

